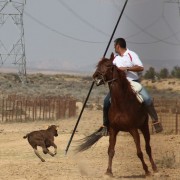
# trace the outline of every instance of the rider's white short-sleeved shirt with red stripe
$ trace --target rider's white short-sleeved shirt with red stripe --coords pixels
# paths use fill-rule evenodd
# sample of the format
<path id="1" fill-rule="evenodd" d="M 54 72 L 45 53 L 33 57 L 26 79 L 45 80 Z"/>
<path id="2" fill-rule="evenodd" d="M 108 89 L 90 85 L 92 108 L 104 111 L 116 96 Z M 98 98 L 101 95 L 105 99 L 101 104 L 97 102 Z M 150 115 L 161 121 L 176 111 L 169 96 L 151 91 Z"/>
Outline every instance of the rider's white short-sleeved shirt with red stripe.
<path id="1" fill-rule="evenodd" d="M 123 56 L 116 55 L 113 64 L 117 67 L 133 67 L 135 65 L 143 67 L 139 56 L 129 49 L 123 54 Z M 126 77 L 128 80 L 138 80 L 139 76 L 137 72 L 127 71 Z"/>

